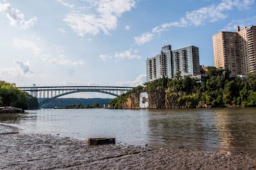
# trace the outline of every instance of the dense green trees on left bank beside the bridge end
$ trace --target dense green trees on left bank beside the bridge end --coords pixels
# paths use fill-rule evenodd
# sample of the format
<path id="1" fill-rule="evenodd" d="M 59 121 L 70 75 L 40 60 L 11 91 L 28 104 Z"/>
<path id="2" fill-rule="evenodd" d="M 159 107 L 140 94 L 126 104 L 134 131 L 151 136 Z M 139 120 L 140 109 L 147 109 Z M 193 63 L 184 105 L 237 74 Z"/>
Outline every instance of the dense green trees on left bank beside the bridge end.
<path id="1" fill-rule="evenodd" d="M 36 109 L 38 102 L 36 97 L 19 90 L 15 84 L 0 81 L 0 106 L 12 106 L 23 110 Z"/>

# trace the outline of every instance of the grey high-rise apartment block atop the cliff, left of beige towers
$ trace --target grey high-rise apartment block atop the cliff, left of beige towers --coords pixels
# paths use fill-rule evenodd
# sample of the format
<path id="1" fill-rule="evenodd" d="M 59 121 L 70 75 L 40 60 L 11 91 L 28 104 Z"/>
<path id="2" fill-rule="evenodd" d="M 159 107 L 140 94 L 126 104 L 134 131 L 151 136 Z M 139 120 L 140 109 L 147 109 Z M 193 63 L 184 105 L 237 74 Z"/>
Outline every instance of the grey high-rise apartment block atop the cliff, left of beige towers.
<path id="1" fill-rule="evenodd" d="M 181 76 L 200 74 L 198 47 L 187 46 L 172 51 L 170 45 L 165 45 L 158 55 L 147 59 L 147 81 L 163 76 L 173 78 L 178 71 Z"/>

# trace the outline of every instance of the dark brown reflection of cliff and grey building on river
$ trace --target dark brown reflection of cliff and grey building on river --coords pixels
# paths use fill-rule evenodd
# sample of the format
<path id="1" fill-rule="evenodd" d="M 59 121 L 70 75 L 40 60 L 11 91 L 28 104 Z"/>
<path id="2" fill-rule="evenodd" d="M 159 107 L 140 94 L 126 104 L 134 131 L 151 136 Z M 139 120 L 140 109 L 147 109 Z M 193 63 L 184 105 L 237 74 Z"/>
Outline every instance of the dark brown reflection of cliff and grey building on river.
<path id="1" fill-rule="evenodd" d="M 149 111 L 151 139 L 162 145 L 218 148 L 218 132 L 211 110 Z"/>

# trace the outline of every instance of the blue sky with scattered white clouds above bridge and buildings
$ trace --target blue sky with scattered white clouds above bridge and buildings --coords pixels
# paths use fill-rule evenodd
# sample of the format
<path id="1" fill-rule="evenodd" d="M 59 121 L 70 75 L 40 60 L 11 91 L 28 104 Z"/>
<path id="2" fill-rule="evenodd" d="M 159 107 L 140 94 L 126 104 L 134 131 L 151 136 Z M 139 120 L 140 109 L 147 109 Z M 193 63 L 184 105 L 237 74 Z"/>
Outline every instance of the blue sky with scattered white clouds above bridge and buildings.
<path id="1" fill-rule="evenodd" d="M 256 25 L 255 0 L 0 0 L 0 80 L 135 87 L 164 45 L 214 66 L 212 36 L 237 25 Z"/>

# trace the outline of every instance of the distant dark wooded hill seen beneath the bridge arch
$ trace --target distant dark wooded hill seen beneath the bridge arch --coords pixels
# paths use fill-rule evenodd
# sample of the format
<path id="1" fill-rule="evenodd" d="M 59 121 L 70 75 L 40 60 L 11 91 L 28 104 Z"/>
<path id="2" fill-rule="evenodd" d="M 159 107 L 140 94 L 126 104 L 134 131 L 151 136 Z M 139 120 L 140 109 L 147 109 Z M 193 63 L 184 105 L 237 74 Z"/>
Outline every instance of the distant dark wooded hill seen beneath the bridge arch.
<path id="1" fill-rule="evenodd" d="M 105 104 L 108 106 L 109 101 L 112 99 L 102 99 L 102 98 L 93 98 L 93 99 L 83 99 L 83 98 L 56 98 L 52 101 L 49 101 L 49 103 L 43 104 L 40 108 L 65 108 L 65 106 L 70 106 L 72 104 L 83 104 L 86 106 L 87 104 L 93 105 L 94 103 L 99 103 L 100 106 L 103 106 Z M 38 100 L 39 101 L 39 100 Z"/>

